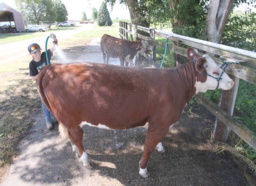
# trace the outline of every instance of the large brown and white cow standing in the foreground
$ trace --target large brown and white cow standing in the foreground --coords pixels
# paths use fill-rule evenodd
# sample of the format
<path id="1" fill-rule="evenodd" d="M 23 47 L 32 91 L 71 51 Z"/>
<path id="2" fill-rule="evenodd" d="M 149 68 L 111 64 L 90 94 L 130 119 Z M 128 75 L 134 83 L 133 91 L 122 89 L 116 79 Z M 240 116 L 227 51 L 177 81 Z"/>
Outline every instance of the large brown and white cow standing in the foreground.
<path id="1" fill-rule="evenodd" d="M 149 155 L 164 152 L 161 140 L 179 120 L 188 101 L 198 92 L 216 89 L 222 70 L 207 55 L 191 48 L 190 62 L 172 69 L 122 67 L 98 63 L 52 64 L 38 76 L 44 104 L 59 120 L 86 168 L 92 161 L 82 145 L 84 125 L 107 129 L 148 128 L 139 174 L 148 177 Z M 226 73 L 219 89 L 231 89 Z M 45 93 L 43 92 L 43 89 Z"/>

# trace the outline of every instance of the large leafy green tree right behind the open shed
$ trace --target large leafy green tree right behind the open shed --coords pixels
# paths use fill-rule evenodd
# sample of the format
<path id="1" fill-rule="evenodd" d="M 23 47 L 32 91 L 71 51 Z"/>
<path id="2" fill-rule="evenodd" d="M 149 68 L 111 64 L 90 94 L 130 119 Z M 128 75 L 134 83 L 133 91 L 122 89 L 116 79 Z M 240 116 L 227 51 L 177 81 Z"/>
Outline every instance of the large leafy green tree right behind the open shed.
<path id="1" fill-rule="evenodd" d="M 57 11 L 51 0 L 15 0 L 15 4 L 25 24 L 52 24 L 56 20 Z"/>

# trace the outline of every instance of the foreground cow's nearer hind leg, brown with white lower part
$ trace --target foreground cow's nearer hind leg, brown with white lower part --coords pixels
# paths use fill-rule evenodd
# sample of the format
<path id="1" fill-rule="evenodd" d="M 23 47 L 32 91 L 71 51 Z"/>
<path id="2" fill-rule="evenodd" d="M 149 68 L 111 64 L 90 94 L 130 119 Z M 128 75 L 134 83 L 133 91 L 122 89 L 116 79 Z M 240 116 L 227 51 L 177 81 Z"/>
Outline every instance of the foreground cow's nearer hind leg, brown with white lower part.
<path id="1" fill-rule="evenodd" d="M 92 169 L 92 161 L 83 148 L 83 129 L 80 128 L 80 126 L 77 126 L 76 128 L 69 128 L 68 131 L 72 139 L 71 142 L 76 145 L 80 159 L 82 160 L 84 166 L 88 169 Z"/>

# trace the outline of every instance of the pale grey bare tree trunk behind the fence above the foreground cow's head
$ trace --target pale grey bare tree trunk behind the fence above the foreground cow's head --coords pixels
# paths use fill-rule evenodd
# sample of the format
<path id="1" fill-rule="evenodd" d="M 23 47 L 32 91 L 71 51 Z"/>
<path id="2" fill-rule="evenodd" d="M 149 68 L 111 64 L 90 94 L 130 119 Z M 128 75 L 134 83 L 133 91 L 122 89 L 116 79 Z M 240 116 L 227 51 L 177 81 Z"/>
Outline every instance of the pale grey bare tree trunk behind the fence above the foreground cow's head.
<path id="1" fill-rule="evenodd" d="M 220 43 L 220 39 L 226 25 L 228 15 L 232 9 L 234 0 L 211 0 L 208 5 L 204 38 L 206 41 Z"/>

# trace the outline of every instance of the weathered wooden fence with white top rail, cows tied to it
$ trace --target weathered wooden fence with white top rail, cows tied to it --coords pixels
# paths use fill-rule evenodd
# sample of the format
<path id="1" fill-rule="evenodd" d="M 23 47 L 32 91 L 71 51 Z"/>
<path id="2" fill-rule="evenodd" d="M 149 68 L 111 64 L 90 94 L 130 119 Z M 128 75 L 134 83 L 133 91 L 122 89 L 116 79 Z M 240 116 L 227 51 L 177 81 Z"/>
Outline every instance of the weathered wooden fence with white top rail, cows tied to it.
<path id="1" fill-rule="evenodd" d="M 128 29 L 129 26 L 129 29 Z M 242 62 L 246 66 L 238 64 L 230 64 L 226 68 L 226 73 L 233 79 L 235 85 L 230 90 L 222 91 L 219 107 L 212 101 L 205 98 L 202 94 L 195 95 L 195 98 L 200 104 L 204 105 L 212 114 L 217 118 L 213 132 L 213 140 L 226 142 L 229 129 L 233 130 L 240 136 L 246 143 L 248 143 L 254 150 L 256 150 L 256 135 L 242 123 L 232 117 L 236 101 L 236 94 L 239 85 L 239 79 L 243 79 L 250 83 L 256 84 L 256 53 L 248 50 L 237 49 L 222 44 L 211 43 L 183 35 L 173 34 L 171 32 L 163 32 L 155 30 L 154 28 L 146 28 L 131 23 L 119 22 L 119 35 L 122 39 L 133 40 L 133 36 L 139 37 L 154 46 L 151 56 L 143 53 L 143 56 L 149 59 L 153 68 L 159 68 L 160 65 L 155 62 L 156 59 L 156 46 L 165 48 L 166 43 L 156 41 L 155 36 L 162 38 L 169 38 L 169 40 L 179 42 L 199 50 L 206 51 L 207 54 L 212 56 L 212 59 L 220 66 L 222 61 L 219 58 L 213 57 L 214 55 L 222 56 L 230 62 Z M 175 46 L 173 44 L 167 45 L 167 50 L 186 56 L 186 49 Z M 200 53 L 202 55 L 202 53 Z M 231 58 L 228 58 L 230 56 Z M 219 118 L 219 120 L 218 120 Z"/>

